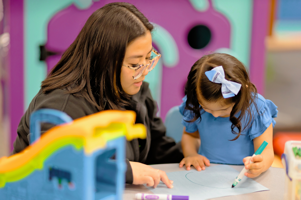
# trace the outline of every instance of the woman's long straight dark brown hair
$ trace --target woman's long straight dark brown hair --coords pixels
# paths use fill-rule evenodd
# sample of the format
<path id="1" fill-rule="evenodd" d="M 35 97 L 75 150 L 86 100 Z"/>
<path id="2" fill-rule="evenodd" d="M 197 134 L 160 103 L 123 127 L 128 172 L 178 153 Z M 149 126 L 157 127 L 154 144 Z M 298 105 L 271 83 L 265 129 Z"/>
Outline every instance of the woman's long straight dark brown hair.
<path id="1" fill-rule="evenodd" d="M 128 43 L 154 26 L 132 4 L 106 4 L 88 18 L 74 42 L 42 82 L 42 91 L 57 88 L 83 96 L 99 110 L 122 109 L 129 95 L 120 73 Z M 107 107 L 106 106 L 106 107 Z"/>

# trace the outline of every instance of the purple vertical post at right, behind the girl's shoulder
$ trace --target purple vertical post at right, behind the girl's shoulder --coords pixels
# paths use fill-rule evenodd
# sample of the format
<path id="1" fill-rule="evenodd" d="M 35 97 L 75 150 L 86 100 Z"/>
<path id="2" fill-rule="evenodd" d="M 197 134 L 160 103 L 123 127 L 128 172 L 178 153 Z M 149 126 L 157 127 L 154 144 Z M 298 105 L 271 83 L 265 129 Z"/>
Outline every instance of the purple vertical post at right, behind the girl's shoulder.
<path id="1" fill-rule="evenodd" d="M 263 96 L 265 92 L 265 36 L 268 34 L 269 6 L 269 0 L 253 0 L 250 76 L 258 93 Z"/>

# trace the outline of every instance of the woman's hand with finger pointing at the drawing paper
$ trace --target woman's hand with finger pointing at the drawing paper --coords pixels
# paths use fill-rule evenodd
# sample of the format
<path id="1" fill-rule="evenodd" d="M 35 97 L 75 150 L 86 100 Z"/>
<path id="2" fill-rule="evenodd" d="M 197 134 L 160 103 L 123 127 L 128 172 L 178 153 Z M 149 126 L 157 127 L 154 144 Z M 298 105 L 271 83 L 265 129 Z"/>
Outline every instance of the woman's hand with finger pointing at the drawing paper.
<path id="1" fill-rule="evenodd" d="M 168 188 L 173 188 L 173 181 L 169 180 L 166 173 L 142 163 L 131 162 L 133 171 L 133 184 L 153 186 L 154 188 L 162 181 Z M 157 172 L 158 171 L 158 172 Z"/>

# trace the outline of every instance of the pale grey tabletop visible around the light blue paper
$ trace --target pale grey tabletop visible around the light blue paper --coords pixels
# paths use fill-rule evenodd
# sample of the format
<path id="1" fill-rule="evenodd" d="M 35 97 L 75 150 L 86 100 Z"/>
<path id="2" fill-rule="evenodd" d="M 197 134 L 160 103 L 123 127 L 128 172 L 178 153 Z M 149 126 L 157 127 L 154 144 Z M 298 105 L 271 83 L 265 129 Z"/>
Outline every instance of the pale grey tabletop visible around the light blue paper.
<path id="1" fill-rule="evenodd" d="M 214 163 L 210 164 L 210 166 L 215 166 L 215 165 L 219 165 L 219 164 L 214 164 Z M 163 170 L 166 173 L 186 170 L 185 166 L 182 168 L 179 168 L 178 163 L 160 164 L 160 165 L 151 165 L 151 166 L 155 169 Z M 229 166 L 231 166 L 232 168 L 236 169 L 239 172 L 244 167 L 244 166 L 239 166 L 239 165 L 229 165 Z M 191 168 L 193 168 L 193 166 Z M 235 195 L 235 196 L 225 196 L 225 197 L 219 197 L 219 198 L 214 198 L 214 199 L 216 199 L 216 200 L 284 199 L 284 178 L 285 178 L 285 172 L 284 172 L 283 168 L 270 167 L 267 171 L 263 172 L 260 176 L 258 176 L 256 178 L 252 178 L 254 181 L 262 184 L 263 186 L 267 187 L 270 190 Z M 136 193 L 152 193 L 152 192 L 150 190 L 148 190 L 146 187 L 144 187 L 143 185 L 126 184 L 126 188 L 125 188 L 125 191 L 123 194 L 123 199 L 124 200 L 134 200 Z"/>

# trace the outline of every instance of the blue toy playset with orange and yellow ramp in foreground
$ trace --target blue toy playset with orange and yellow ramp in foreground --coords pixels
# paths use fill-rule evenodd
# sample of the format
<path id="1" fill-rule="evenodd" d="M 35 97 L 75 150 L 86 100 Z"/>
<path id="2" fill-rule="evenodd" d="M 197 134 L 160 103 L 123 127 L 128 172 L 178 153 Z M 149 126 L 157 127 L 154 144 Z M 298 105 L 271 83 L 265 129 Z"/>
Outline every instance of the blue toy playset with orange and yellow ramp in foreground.
<path id="1" fill-rule="evenodd" d="M 126 139 L 146 137 L 144 125 L 134 124 L 135 112 L 103 111 L 74 121 L 60 111 L 37 112 L 33 143 L 0 159 L 0 199 L 122 199 Z M 67 123 L 39 137 L 42 122 Z"/>

